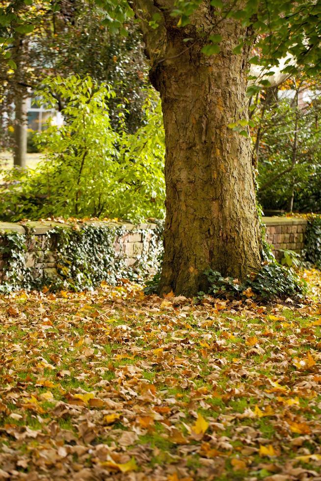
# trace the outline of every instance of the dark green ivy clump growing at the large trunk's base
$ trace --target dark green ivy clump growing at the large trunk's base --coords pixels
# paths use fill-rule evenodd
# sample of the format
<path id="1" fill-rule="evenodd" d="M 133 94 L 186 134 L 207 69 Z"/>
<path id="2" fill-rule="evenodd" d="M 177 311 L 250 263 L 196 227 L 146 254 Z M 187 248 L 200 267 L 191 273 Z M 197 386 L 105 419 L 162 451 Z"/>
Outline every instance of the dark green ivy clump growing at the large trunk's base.
<path id="1" fill-rule="evenodd" d="M 208 269 L 210 294 L 227 297 L 258 297 L 268 301 L 276 298 L 300 299 L 307 293 L 306 284 L 294 273 L 276 262 L 265 262 L 259 272 L 248 274 L 240 282 L 232 277 L 223 277 L 219 272 Z"/>

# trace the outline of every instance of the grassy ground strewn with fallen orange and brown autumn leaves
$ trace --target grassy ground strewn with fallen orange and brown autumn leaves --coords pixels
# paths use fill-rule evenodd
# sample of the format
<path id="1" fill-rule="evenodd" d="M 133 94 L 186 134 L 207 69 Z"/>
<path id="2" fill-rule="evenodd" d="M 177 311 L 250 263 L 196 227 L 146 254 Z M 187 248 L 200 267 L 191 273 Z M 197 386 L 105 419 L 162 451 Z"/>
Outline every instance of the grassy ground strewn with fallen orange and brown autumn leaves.
<path id="1" fill-rule="evenodd" d="M 321 480 L 321 302 L 0 297 L 0 479 Z"/>

